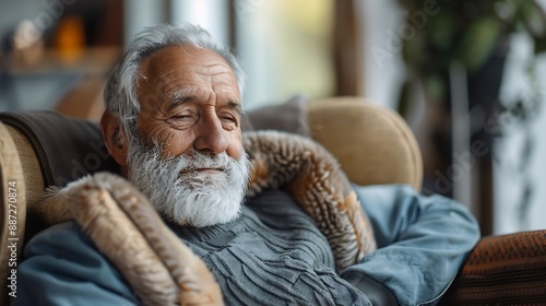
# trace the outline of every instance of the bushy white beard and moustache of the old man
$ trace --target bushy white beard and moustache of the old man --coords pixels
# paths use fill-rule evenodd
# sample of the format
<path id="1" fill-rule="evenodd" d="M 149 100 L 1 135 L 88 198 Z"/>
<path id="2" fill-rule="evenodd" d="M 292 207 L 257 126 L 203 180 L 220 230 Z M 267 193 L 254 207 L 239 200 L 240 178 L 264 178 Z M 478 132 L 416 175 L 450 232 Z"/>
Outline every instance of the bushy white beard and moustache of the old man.
<path id="1" fill-rule="evenodd" d="M 129 180 L 157 212 L 180 225 L 204 227 L 237 219 L 245 197 L 249 162 L 247 154 L 234 160 L 192 151 L 189 155 L 163 158 L 162 149 L 133 141 L 129 152 Z M 222 168 L 222 172 L 198 172 Z"/>

